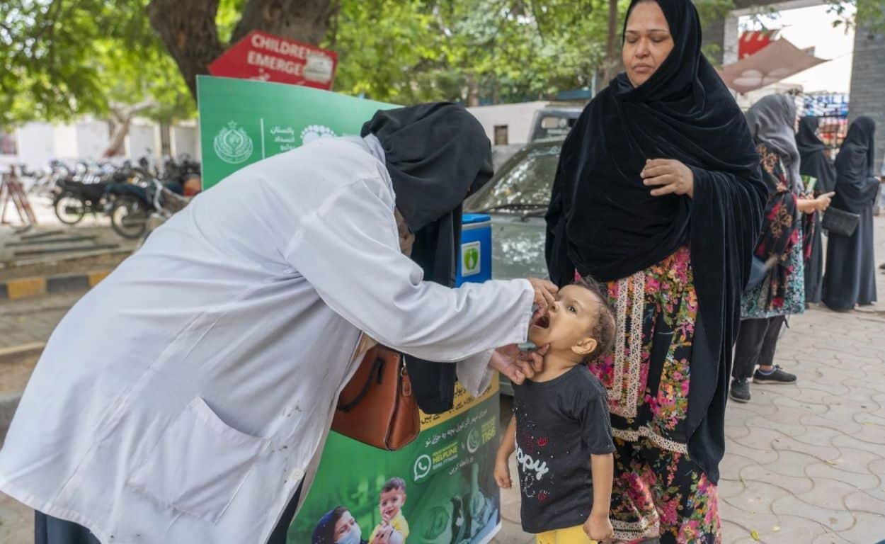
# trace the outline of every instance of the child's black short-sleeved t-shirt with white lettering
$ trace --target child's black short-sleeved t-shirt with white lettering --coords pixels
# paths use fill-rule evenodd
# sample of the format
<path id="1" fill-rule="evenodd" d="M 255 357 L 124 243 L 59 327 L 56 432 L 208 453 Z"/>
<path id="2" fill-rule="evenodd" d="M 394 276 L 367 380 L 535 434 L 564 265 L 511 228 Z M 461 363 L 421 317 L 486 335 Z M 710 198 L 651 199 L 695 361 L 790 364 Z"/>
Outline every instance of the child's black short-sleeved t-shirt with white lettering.
<path id="1" fill-rule="evenodd" d="M 583 525 L 593 508 L 590 455 L 614 451 L 605 388 L 578 365 L 513 392 L 523 530 Z"/>

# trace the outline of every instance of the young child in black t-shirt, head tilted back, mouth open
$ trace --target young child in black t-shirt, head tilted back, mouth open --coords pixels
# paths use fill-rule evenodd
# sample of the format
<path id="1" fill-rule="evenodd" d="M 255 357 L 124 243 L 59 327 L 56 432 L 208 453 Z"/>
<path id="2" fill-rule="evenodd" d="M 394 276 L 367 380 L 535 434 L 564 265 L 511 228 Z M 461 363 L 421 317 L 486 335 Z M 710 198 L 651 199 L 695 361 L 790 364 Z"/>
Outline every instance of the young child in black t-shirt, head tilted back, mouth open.
<path id="1" fill-rule="evenodd" d="M 558 292 L 528 333 L 550 346 L 543 370 L 513 385 L 513 417 L 495 465 L 498 486 L 512 486 L 507 462 L 519 467 L 522 528 L 538 544 L 587 544 L 612 538 L 612 426 L 605 389 L 587 368 L 611 349 L 612 309 L 595 283 Z"/>

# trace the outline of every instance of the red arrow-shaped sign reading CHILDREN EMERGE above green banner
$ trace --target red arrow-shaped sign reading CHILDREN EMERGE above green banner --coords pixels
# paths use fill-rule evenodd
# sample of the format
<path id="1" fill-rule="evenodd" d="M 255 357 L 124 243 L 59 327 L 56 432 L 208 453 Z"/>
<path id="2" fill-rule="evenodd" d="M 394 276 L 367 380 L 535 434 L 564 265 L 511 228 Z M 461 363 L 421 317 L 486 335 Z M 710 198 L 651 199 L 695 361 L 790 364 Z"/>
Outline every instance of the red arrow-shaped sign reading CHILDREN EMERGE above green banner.
<path id="1" fill-rule="evenodd" d="M 335 51 L 253 30 L 216 58 L 209 73 L 329 90 L 337 65 Z"/>

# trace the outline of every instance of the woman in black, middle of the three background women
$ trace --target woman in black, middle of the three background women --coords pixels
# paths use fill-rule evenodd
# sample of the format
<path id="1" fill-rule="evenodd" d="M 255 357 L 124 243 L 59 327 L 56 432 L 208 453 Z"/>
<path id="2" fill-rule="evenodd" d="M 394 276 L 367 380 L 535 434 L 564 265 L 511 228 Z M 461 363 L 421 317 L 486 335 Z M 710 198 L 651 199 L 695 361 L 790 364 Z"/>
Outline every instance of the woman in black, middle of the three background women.
<path id="1" fill-rule="evenodd" d="M 811 176 L 817 180 L 814 185 L 814 197 L 826 194 L 835 188 L 835 166 L 827 156 L 827 144 L 820 141 L 817 135 L 820 118 L 804 117 L 799 120 L 796 144 L 799 148 L 799 174 Z M 803 238 L 809 245 L 805 260 L 805 302 L 820 302 L 823 292 L 824 278 L 824 245 L 820 229 L 820 214 L 813 217 L 814 229 L 811 237 Z M 807 233 L 806 233 L 807 234 Z"/>

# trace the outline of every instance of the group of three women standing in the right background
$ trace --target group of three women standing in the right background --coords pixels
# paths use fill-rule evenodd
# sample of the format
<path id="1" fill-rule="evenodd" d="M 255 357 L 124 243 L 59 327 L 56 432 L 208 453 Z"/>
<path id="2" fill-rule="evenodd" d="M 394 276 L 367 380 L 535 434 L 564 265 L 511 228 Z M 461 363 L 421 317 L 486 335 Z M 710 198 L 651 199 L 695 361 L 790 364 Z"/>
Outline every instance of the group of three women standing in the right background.
<path id="1" fill-rule="evenodd" d="M 867 117 L 855 120 L 834 164 L 817 134 L 819 120 L 803 118 L 794 132 L 796 118 L 793 99 L 781 95 L 764 97 L 747 112 L 769 198 L 735 345 L 729 395 L 739 402 L 750 400 L 750 379 L 756 384 L 796 381 L 774 363 L 789 315 L 821 301 L 847 311 L 876 300 L 873 204 L 880 180 L 873 175 L 875 124 Z M 831 204 L 831 213 L 857 225 L 850 234 L 827 233 L 825 273 L 820 218 Z"/>

